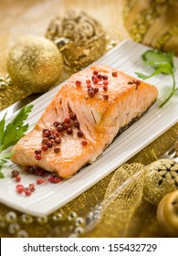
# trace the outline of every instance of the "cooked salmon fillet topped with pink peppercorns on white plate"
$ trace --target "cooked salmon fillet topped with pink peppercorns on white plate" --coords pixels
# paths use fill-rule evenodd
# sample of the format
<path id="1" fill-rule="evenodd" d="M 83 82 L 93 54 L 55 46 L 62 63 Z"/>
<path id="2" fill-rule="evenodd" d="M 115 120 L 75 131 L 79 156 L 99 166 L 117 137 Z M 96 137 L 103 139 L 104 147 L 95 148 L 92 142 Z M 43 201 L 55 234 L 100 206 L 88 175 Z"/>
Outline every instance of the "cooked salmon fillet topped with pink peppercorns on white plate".
<path id="1" fill-rule="evenodd" d="M 79 71 L 58 91 L 12 161 L 73 176 L 156 101 L 156 87 L 107 66 Z M 38 151 L 37 151 L 38 150 Z M 36 153 L 35 153 L 36 151 Z"/>

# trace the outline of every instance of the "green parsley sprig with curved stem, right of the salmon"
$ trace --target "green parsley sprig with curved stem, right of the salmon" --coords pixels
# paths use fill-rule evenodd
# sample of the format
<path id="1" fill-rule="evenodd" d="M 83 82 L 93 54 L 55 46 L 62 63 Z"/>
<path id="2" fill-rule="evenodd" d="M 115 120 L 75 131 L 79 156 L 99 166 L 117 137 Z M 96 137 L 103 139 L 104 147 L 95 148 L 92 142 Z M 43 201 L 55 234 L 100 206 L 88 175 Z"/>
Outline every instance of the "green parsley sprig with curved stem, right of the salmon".
<path id="1" fill-rule="evenodd" d="M 175 77 L 174 77 L 175 68 L 173 66 L 173 55 L 174 55 L 173 52 L 165 53 L 160 50 L 149 49 L 141 55 L 141 58 L 144 64 L 147 66 L 151 66 L 154 69 L 154 71 L 152 72 L 151 75 L 144 75 L 138 72 L 135 73 L 142 80 L 152 78 L 153 76 L 160 73 L 172 76 L 173 78 L 172 91 L 167 96 L 167 98 L 164 101 L 162 101 L 160 105 L 161 108 L 163 105 L 165 105 L 167 101 L 169 101 L 173 97 L 175 92 L 178 91 L 178 88 L 176 88 Z"/>

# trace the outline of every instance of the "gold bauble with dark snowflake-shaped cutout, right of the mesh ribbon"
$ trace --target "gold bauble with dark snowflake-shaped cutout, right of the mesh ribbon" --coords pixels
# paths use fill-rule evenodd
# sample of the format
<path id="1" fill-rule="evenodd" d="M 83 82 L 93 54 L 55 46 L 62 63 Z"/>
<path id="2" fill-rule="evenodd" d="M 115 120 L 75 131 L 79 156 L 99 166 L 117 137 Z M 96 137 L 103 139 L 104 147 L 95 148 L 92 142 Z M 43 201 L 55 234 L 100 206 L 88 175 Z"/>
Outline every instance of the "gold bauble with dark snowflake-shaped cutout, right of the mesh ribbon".
<path id="1" fill-rule="evenodd" d="M 166 194 L 178 189 L 178 163 L 162 159 L 146 167 L 143 194 L 152 205 L 157 206 Z"/>

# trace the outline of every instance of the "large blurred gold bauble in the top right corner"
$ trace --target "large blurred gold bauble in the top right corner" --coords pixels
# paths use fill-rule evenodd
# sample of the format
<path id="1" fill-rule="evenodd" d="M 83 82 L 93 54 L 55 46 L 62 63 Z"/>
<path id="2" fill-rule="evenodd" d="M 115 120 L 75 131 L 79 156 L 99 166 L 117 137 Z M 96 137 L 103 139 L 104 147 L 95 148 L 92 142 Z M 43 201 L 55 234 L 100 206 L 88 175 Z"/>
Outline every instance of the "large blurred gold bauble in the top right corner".
<path id="1" fill-rule="evenodd" d="M 124 25 L 131 38 L 178 55 L 178 1 L 123 0 Z"/>

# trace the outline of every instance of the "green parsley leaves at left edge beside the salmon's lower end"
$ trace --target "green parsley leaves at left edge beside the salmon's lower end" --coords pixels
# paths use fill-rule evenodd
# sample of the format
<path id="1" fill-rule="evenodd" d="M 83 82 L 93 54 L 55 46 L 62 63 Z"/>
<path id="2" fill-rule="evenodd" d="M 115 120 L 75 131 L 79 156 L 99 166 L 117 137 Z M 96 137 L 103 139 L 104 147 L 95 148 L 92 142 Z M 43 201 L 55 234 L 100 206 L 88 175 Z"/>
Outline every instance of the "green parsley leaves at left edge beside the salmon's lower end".
<path id="1" fill-rule="evenodd" d="M 33 105 L 23 107 L 16 117 L 7 125 L 5 125 L 5 116 L 0 121 L 0 177 L 4 177 L 1 173 L 1 168 L 5 165 L 7 159 L 10 159 L 15 151 L 3 154 L 2 152 L 9 146 L 16 144 L 21 139 L 28 129 L 28 123 L 25 121 L 29 112 L 32 111 Z"/>

